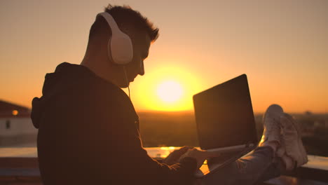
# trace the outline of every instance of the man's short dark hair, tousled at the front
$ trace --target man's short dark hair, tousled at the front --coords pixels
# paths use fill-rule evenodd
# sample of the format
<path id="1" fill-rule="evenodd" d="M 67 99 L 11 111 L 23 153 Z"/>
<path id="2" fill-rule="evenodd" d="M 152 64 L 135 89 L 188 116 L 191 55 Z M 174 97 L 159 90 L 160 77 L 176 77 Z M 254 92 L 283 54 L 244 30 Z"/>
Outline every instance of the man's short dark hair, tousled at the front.
<path id="1" fill-rule="evenodd" d="M 133 32 L 146 32 L 149 35 L 151 41 L 156 41 L 158 38 L 158 28 L 153 26 L 152 22 L 149 22 L 147 18 L 141 15 L 138 11 L 132 10 L 130 6 L 111 6 L 109 4 L 104 8 L 104 11 L 111 14 L 117 23 L 118 27 L 123 31 L 124 29 L 129 29 L 125 25 L 130 25 L 134 30 Z M 97 29 L 100 29 L 100 20 L 96 19 L 90 28 L 89 39 L 97 34 Z M 125 33 L 128 34 L 129 33 Z"/>

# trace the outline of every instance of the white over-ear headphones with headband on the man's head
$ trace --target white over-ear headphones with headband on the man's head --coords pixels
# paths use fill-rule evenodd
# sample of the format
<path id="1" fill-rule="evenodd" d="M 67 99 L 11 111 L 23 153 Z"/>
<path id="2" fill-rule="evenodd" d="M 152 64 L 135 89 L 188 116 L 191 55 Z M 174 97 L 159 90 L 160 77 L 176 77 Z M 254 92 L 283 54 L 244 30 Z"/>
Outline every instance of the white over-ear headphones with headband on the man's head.
<path id="1" fill-rule="evenodd" d="M 133 58 L 133 46 L 130 36 L 118 28 L 114 18 L 107 12 L 98 13 L 111 28 L 111 39 L 108 41 L 107 53 L 115 64 L 128 64 Z"/>

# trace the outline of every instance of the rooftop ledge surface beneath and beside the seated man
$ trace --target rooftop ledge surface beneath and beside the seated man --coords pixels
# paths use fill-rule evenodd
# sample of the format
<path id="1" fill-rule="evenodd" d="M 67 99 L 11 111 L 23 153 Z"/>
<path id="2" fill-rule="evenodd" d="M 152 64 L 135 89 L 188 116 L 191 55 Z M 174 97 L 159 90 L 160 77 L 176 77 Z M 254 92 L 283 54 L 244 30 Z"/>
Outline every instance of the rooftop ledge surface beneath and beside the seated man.
<path id="1" fill-rule="evenodd" d="M 178 147 L 145 148 L 153 158 L 165 158 Z M 308 163 L 295 172 L 262 183 L 263 185 L 328 185 L 328 158 L 308 156 Z M 0 184 L 41 184 L 36 147 L 0 148 Z"/>

